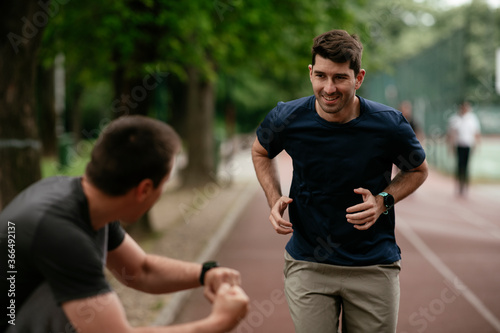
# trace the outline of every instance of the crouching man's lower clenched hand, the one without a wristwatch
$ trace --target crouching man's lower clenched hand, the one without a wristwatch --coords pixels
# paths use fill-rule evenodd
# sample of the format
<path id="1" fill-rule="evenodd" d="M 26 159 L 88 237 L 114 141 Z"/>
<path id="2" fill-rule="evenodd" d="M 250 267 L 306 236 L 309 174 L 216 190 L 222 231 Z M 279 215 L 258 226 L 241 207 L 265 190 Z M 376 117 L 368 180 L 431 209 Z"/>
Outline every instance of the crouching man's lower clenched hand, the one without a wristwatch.
<path id="1" fill-rule="evenodd" d="M 248 312 L 249 298 L 239 286 L 223 283 L 214 300 L 214 306 L 209 319 L 212 319 L 218 328 L 226 331 L 233 329 Z"/>

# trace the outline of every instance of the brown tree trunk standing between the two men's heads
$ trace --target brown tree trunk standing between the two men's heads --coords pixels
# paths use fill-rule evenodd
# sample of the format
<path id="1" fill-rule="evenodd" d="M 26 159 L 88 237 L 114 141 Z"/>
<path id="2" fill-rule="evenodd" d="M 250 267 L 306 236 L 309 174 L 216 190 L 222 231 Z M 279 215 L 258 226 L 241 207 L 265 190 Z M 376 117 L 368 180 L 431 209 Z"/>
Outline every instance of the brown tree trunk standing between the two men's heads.
<path id="1" fill-rule="evenodd" d="M 213 82 L 200 80 L 199 72 L 187 69 L 187 131 L 188 165 L 183 173 L 183 185 L 196 187 L 213 182 L 215 176 Z"/>

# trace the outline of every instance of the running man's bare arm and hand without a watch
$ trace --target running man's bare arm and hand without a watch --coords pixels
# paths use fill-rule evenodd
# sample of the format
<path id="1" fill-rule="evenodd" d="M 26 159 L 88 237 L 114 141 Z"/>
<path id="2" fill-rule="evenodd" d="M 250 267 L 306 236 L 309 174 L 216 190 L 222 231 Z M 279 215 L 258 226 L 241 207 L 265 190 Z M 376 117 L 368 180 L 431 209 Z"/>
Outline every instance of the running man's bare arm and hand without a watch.
<path id="1" fill-rule="evenodd" d="M 292 202 L 292 199 L 282 195 L 276 162 L 268 157 L 267 150 L 262 147 L 258 139 L 255 139 L 252 146 L 252 161 L 257 179 L 264 190 L 267 203 L 271 208 L 269 221 L 273 225 L 274 230 L 284 235 L 293 232 L 292 224 L 283 219 L 283 213 Z"/>

